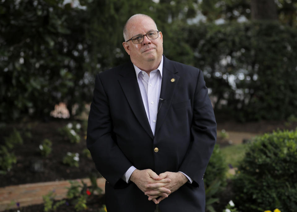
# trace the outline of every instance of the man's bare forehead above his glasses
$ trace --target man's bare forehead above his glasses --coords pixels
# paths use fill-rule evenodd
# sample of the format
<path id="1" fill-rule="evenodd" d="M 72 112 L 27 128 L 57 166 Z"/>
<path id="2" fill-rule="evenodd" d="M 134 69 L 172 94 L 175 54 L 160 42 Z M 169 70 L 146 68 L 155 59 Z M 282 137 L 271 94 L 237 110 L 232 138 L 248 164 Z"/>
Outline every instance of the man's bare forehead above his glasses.
<path id="1" fill-rule="evenodd" d="M 127 31 L 130 36 L 146 34 L 151 30 L 157 30 L 155 23 L 148 17 L 135 17 L 127 24 Z"/>

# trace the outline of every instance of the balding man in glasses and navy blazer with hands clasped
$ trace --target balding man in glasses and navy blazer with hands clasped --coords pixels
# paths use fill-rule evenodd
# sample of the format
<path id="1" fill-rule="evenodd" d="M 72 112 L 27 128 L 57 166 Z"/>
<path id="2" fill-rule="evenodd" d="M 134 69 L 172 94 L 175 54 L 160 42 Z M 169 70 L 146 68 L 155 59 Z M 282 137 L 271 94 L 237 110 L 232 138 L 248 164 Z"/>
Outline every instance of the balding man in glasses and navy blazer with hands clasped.
<path id="1" fill-rule="evenodd" d="M 163 55 L 162 33 L 147 15 L 127 21 L 124 39 L 131 62 L 96 76 L 88 118 L 107 210 L 202 212 L 216 140 L 202 71 Z"/>

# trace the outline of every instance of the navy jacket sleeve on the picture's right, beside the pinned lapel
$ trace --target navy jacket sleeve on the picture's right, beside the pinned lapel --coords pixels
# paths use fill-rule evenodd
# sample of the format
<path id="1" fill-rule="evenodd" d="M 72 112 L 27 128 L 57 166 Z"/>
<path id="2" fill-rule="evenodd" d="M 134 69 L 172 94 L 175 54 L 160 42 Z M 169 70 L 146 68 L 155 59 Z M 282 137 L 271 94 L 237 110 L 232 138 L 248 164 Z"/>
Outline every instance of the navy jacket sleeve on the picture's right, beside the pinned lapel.
<path id="1" fill-rule="evenodd" d="M 193 180 L 192 185 L 197 187 L 203 179 L 217 138 L 217 124 L 201 70 L 193 100 L 191 138 L 179 171 L 187 174 Z"/>

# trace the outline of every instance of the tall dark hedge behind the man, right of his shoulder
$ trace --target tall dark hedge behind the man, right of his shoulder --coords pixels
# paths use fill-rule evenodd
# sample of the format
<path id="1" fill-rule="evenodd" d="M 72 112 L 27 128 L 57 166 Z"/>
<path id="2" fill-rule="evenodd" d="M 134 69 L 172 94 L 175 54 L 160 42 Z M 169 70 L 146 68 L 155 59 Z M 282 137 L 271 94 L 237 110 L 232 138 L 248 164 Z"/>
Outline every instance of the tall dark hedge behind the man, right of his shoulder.
<path id="1" fill-rule="evenodd" d="M 216 112 L 240 121 L 297 116 L 297 29 L 274 22 L 186 27 Z M 174 58 L 175 59 L 175 58 Z"/>

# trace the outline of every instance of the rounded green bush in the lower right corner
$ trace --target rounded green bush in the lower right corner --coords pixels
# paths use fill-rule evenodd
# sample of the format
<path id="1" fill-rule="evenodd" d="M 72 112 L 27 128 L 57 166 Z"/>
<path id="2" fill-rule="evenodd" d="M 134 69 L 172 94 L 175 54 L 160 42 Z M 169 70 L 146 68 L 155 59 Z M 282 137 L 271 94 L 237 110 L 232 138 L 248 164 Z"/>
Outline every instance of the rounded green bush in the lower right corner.
<path id="1" fill-rule="evenodd" d="M 255 138 L 239 163 L 233 182 L 239 210 L 297 208 L 297 131 L 278 131 Z"/>

